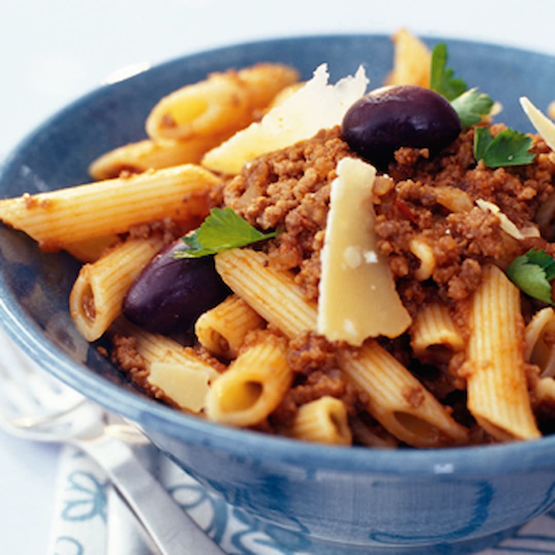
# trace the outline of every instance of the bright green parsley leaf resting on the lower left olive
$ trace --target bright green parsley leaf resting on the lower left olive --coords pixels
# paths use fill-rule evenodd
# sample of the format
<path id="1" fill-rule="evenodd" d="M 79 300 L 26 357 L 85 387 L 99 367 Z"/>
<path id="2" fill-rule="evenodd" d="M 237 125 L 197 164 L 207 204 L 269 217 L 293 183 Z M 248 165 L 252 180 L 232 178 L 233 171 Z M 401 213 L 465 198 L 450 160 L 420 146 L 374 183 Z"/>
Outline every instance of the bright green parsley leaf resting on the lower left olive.
<path id="1" fill-rule="evenodd" d="M 182 240 L 189 247 L 175 251 L 174 258 L 200 258 L 223 250 L 271 239 L 278 231 L 261 233 L 228 207 L 213 208 L 210 215 L 192 234 Z"/>

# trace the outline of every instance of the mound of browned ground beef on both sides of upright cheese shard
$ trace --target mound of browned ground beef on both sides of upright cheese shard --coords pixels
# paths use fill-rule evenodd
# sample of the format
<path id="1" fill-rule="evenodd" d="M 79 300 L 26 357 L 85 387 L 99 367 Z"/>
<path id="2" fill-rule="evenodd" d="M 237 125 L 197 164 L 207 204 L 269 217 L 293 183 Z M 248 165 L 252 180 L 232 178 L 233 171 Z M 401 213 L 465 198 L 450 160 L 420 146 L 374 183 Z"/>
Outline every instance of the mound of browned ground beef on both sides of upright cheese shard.
<path id="1" fill-rule="evenodd" d="M 495 135 L 503 125 L 492 126 Z M 533 139 L 533 164 L 487 168 L 473 154 L 474 130 L 461 133 L 435 157 L 403 147 L 374 189 L 378 247 L 387 256 L 403 304 L 411 315 L 430 297 L 465 299 L 481 280 L 481 265 L 508 264 L 530 246 L 555 251 L 544 239 L 512 241 L 497 216 L 475 205 L 495 203 L 517 226 L 531 225 L 553 194 L 555 163 L 542 139 Z M 337 162 L 353 155 L 338 127 L 256 159 L 225 186 L 224 201 L 261 229 L 285 229 L 266 246 L 271 264 L 295 271 L 307 299 L 316 299 L 320 250 Z M 446 195 L 451 198 L 446 201 Z M 415 278 L 420 260 L 412 239 L 432 246 L 431 280 Z"/>

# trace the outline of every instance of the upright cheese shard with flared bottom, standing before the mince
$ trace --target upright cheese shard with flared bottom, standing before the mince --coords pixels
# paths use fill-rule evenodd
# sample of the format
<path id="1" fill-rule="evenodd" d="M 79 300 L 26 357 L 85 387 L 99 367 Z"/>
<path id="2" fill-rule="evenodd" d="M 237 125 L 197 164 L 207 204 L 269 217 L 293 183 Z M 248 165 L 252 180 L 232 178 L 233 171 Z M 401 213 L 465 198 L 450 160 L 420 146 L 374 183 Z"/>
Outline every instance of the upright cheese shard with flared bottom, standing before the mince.
<path id="1" fill-rule="evenodd" d="M 375 176 L 374 166 L 357 158 L 337 164 L 320 254 L 317 331 L 355 346 L 367 337 L 397 337 L 411 324 L 387 261 L 376 251 Z"/>

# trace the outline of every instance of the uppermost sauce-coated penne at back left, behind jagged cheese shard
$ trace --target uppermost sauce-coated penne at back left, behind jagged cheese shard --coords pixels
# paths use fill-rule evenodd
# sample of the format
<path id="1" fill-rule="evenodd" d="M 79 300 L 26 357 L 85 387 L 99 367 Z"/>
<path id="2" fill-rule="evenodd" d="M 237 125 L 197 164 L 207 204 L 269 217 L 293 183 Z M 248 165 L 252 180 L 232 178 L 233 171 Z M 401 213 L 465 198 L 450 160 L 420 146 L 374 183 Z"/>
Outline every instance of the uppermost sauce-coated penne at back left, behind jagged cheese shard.
<path id="1" fill-rule="evenodd" d="M 298 78 L 295 69 L 270 63 L 213 73 L 161 99 L 147 118 L 147 133 L 158 140 L 231 135 Z"/>

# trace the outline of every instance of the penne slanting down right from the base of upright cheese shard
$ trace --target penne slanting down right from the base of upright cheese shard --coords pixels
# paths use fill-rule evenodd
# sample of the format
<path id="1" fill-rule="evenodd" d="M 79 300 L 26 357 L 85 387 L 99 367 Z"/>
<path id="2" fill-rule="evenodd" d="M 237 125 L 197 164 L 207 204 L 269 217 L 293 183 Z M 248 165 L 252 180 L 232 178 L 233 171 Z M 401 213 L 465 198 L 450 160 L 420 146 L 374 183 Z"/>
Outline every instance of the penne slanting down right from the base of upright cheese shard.
<path id="1" fill-rule="evenodd" d="M 339 365 L 368 397 L 367 411 L 413 447 L 463 445 L 468 431 L 395 357 L 376 341 L 338 352 Z"/>

